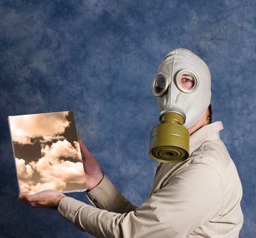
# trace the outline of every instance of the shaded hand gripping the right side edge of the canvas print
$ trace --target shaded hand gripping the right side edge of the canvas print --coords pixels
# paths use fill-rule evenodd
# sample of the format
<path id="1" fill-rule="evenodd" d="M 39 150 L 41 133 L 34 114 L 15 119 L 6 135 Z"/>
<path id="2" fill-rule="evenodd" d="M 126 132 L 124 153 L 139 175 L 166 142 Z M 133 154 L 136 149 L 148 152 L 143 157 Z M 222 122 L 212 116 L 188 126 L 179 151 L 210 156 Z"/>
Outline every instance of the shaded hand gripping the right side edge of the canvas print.
<path id="1" fill-rule="evenodd" d="M 87 190 L 92 190 L 101 182 L 104 174 L 96 158 L 89 152 L 86 146 L 84 146 L 84 143 L 79 140 L 79 144 L 82 153 L 82 164 L 84 165 Z"/>

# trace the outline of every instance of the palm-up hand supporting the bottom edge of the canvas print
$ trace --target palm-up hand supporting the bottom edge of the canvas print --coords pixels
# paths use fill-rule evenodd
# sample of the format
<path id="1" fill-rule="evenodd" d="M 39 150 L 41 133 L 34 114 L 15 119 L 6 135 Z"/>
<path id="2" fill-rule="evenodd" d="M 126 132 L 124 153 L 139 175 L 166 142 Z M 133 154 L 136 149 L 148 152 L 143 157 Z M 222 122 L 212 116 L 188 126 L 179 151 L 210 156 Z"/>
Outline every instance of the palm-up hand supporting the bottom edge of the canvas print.
<path id="1" fill-rule="evenodd" d="M 36 194 L 20 194 L 18 199 L 29 203 L 32 207 L 45 207 L 57 209 L 59 201 L 63 199 L 65 195 L 62 192 L 57 192 L 54 190 L 44 190 L 42 192 L 37 192 Z"/>

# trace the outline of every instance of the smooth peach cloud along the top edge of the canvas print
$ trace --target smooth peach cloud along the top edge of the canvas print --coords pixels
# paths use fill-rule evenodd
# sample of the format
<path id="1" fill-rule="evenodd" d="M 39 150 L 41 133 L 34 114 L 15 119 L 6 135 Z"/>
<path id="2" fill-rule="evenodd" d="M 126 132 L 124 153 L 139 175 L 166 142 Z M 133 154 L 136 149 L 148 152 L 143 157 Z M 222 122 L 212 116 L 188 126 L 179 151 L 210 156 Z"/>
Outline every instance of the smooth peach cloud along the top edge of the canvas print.
<path id="1" fill-rule="evenodd" d="M 31 143 L 33 137 L 53 138 L 64 133 L 69 126 L 68 112 L 54 112 L 48 114 L 31 114 L 10 116 L 12 140 L 18 143 Z"/>

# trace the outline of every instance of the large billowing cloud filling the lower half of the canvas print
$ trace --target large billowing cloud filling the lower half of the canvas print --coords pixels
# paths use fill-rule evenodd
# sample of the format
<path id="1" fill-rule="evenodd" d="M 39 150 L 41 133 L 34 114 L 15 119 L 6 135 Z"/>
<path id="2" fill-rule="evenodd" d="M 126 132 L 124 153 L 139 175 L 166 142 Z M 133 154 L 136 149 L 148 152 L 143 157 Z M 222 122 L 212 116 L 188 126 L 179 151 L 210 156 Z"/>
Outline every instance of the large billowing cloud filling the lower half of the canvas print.
<path id="1" fill-rule="evenodd" d="M 25 165 L 25 160 L 16 158 L 20 191 L 29 194 L 45 189 L 64 191 L 67 183 L 84 184 L 85 188 L 80 147 L 77 141 L 74 144 L 75 148 L 64 140 L 45 146 L 42 148 L 43 157 L 28 165 Z M 78 161 L 63 160 L 63 157 L 72 157 Z M 31 180 L 35 172 L 40 176 L 37 182 Z"/>

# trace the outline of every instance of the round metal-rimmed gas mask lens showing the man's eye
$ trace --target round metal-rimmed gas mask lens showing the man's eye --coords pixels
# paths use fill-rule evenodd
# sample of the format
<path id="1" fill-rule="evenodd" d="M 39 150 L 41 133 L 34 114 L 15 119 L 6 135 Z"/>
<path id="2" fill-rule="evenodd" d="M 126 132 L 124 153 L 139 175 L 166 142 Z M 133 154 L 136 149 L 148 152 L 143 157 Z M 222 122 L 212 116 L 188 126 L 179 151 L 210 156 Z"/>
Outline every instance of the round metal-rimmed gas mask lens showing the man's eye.
<path id="1" fill-rule="evenodd" d="M 198 87 L 197 75 L 189 69 L 180 70 L 176 74 L 175 84 L 182 92 L 195 92 Z"/>

